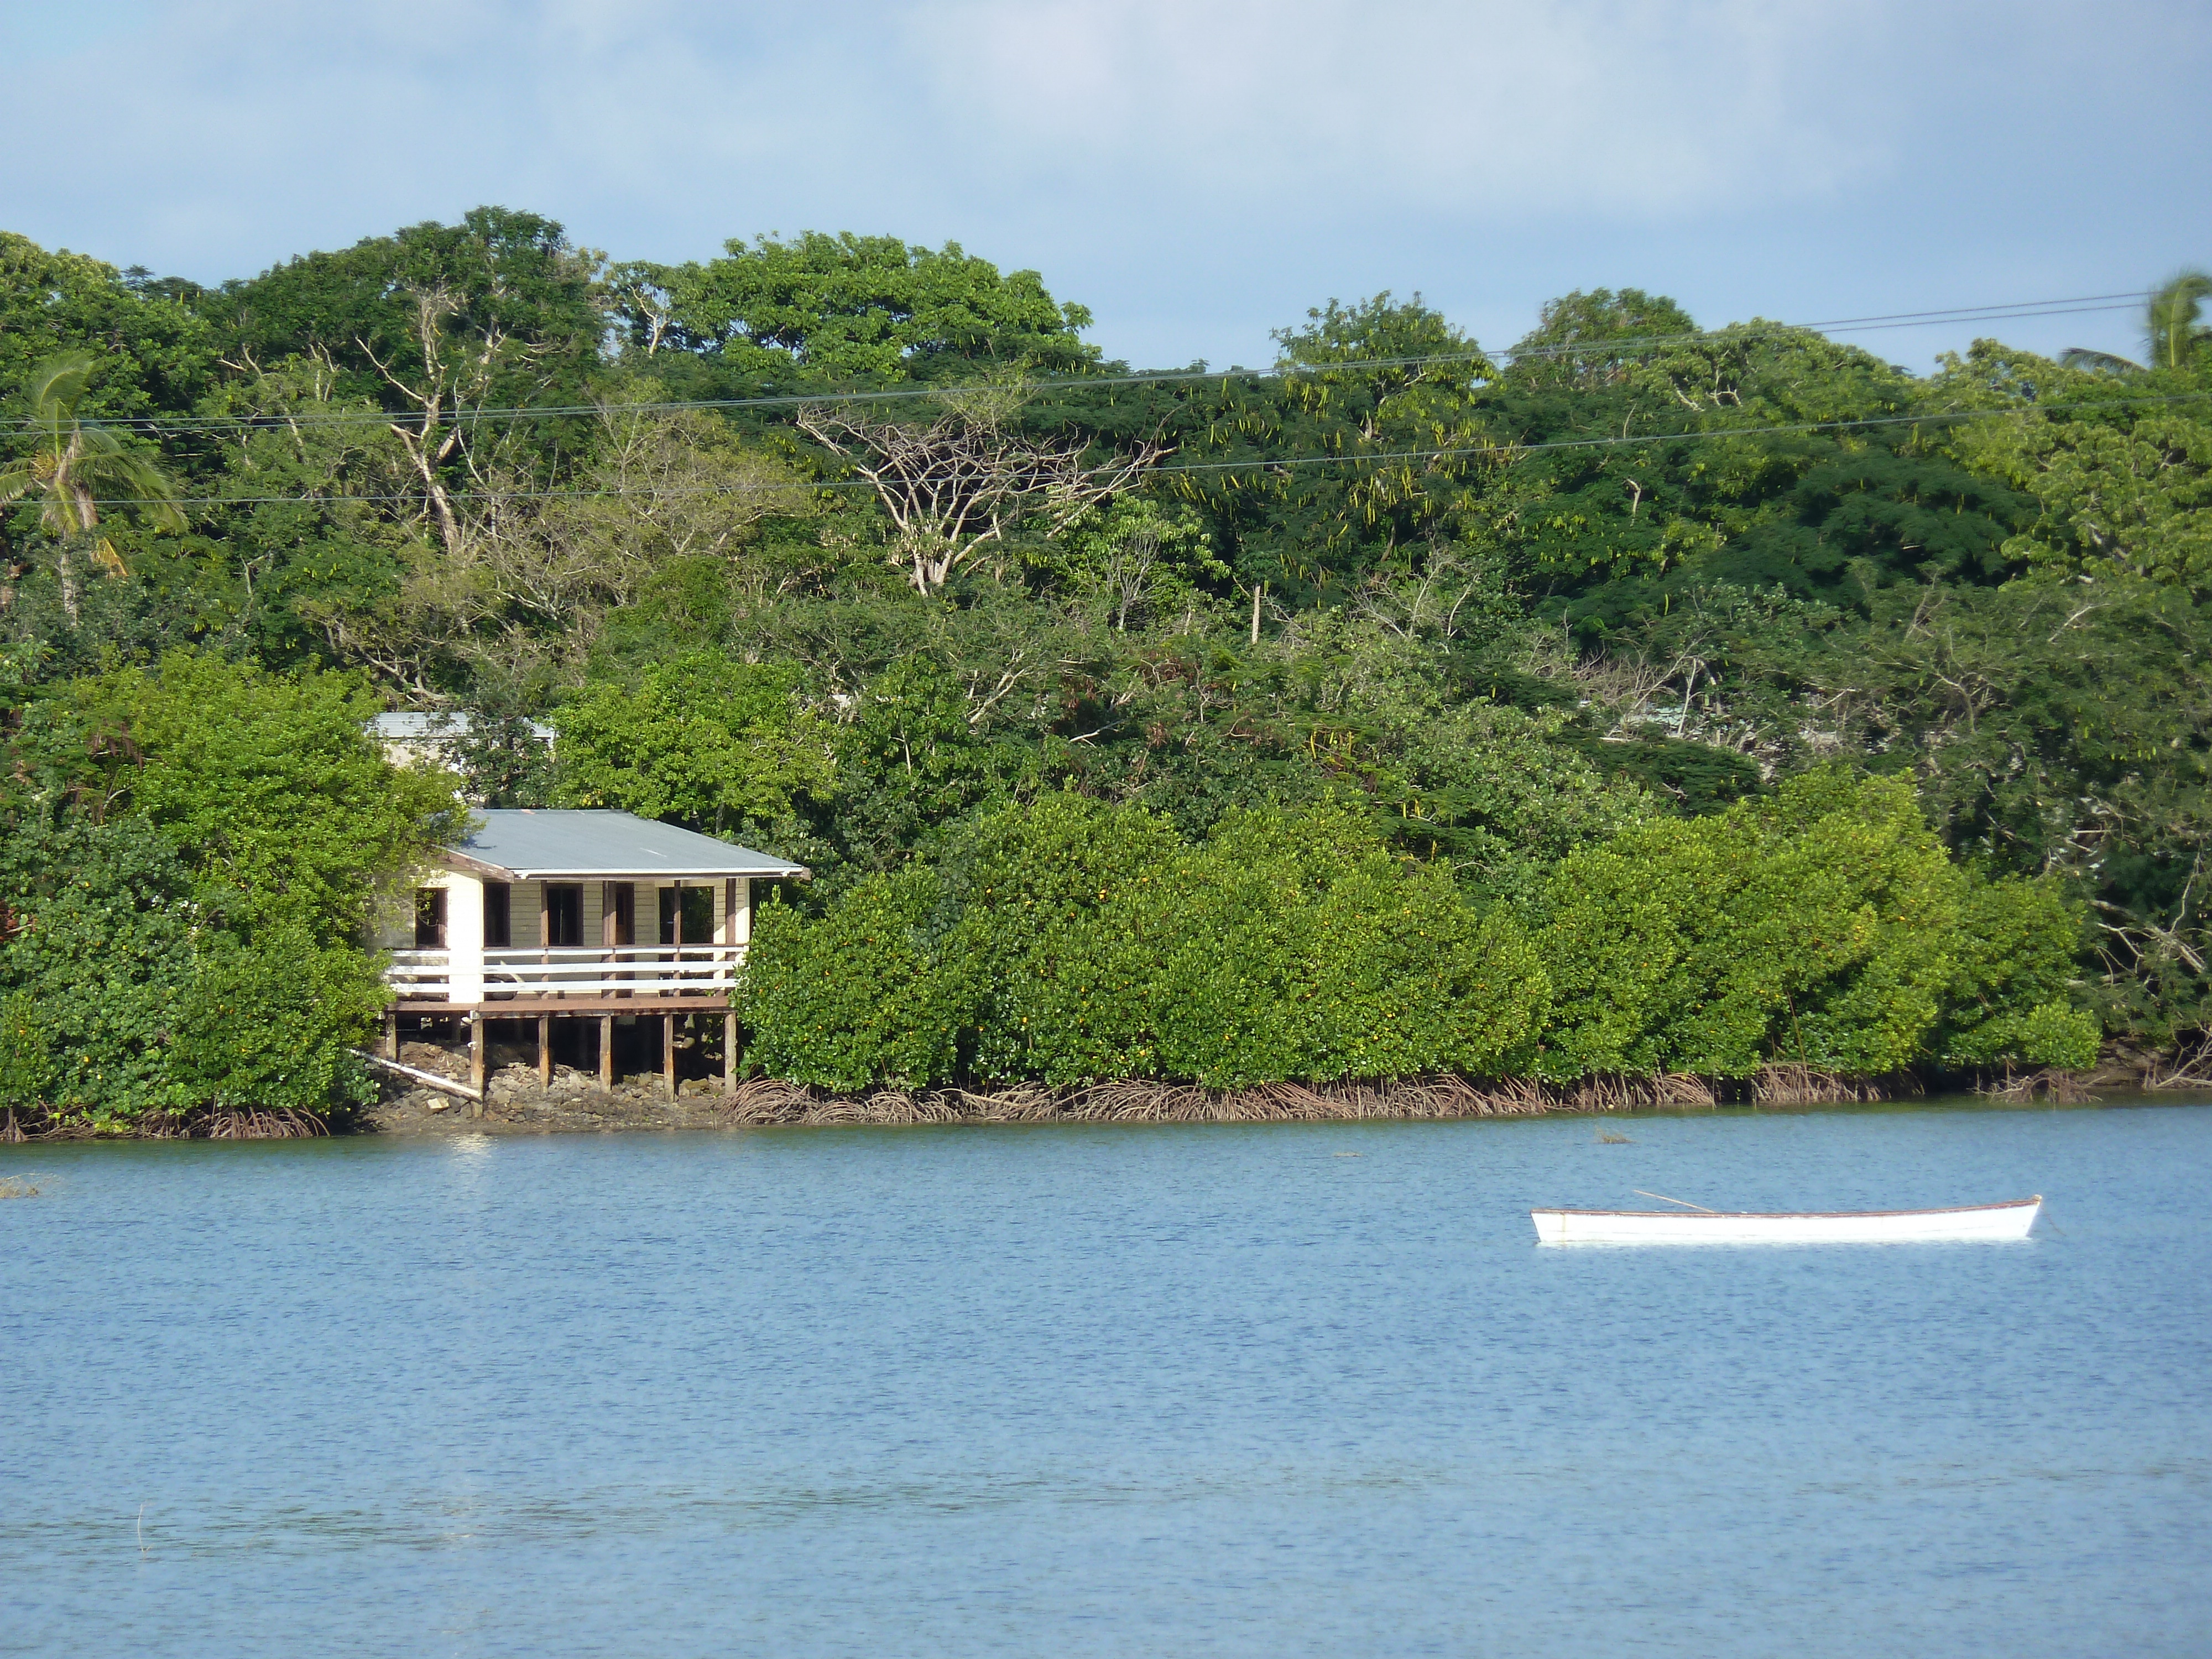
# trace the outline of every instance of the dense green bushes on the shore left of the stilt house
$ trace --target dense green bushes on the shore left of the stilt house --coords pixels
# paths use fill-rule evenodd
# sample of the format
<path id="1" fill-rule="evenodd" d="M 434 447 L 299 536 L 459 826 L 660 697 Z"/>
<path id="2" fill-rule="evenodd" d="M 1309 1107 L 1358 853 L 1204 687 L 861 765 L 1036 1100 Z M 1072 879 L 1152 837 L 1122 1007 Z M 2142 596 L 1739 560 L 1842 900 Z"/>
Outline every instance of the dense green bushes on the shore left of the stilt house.
<path id="1" fill-rule="evenodd" d="M 0 1104 L 95 1130 L 365 1097 L 380 883 L 460 812 L 343 675 L 177 653 L 11 710 Z"/>

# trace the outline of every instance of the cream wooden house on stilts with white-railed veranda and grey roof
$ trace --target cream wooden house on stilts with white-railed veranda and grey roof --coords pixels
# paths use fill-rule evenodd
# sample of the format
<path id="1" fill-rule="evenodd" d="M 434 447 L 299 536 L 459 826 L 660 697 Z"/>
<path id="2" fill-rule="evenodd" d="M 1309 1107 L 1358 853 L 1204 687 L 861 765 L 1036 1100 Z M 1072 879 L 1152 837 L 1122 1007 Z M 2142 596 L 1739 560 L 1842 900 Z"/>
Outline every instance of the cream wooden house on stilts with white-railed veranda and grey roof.
<path id="1" fill-rule="evenodd" d="M 403 1026 L 467 1024 L 469 1084 L 484 1088 L 487 1024 L 535 1024 L 538 1077 L 562 1040 L 615 1082 L 617 1040 L 657 1048 L 677 1088 L 679 1035 L 721 1031 L 723 1086 L 737 1086 L 730 991 L 752 938 L 752 885 L 805 867 L 628 812 L 489 810 L 442 847 L 378 940 L 392 953 L 385 1055 Z M 555 1022 L 582 1022 L 557 1031 Z M 644 1026 L 644 1029 L 639 1029 Z"/>

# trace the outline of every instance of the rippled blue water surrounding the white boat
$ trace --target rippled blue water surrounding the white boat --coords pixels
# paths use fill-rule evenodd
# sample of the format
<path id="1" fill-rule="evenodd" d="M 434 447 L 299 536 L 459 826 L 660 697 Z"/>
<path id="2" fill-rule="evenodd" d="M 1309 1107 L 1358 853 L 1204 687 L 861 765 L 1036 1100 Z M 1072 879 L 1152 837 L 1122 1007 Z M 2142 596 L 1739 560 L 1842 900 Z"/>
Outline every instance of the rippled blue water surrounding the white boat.
<path id="1" fill-rule="evenodd" d="M 2212 1106 L 1617 1128 L 0 1148 L 0 1652 L 2205 1650 Z"/>

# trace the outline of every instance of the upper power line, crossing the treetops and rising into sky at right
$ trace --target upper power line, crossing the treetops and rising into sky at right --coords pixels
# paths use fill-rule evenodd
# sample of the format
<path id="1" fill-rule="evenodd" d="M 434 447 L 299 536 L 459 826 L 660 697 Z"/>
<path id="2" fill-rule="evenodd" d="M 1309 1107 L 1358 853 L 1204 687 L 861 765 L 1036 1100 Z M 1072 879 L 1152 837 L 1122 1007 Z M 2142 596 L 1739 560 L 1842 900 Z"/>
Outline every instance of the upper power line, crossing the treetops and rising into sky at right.
<path id="1" fill-rule="evenodd" d="M 1900 327 L 1938 327 L 1942 323 L 2008 323 L 2035 316 L 2077 316 L 2090 312 L 2115 312 L 2130 310 L 2150 296 L 2152 290 L 2141 290 L 2135 294 L 2084 294 L 2077 299 L 2046 299 L 2046 301 L 2008 301 L 2002 305 L 1960 305 L 1951 310 L 1936 312 L 1891 312 L 1885 316 L 1845 316 L 1823 323 L 1734 323 L 1719 330 L 1697 330 L 1690 334 L 1650 334 L 1650 336 L 1621 336 L 1604 341 L 1584 341 L 1566 345 L 1537 345 L 1524 352 L 1502 349 L 1502 352 L 1438 352 L 1427 356 L 1394 356 L 1394 358 L 1345 358 L 1340 363 L 1296 363 L 1290 367 L 1272 369 L 1148 369 L 1144 374 L 1086 374 L 1086 376 L 1053 376 L 1042 380 L 1024 383 L 1024 392 L 1031 394 L 1055 394 L 1055 392 L 1097 392 L 1113 387 L 1133 385 L 1197 385 L 1206 380 L 1294 380 L 1298 376 L 1314 374 L 1345 374 L 1358 369 L 1418 369 L 1418 367 L 1444 367 L 1453 363 L 1531 363 L 1551 358 L 1575 358 L 1575 356 L 1639 356 L 1648 352 L 1659 352 L 1679 345 L 1699 343 L 1734 343 L 1774 334 L 1812 334 L 1832 330 L 1838 334 L 1860 334 L 1876 330 L 1900 330 Z M 960 396 L 987 396 L 993 392 L 1004 392 L 1004 385 L 949 385 L 949 387 L 869 387 L 852 392 L 787 392 L 787 394 L 763 394 L 752 398 L 666 398 L 648 403 L 622 403 L 622 405 L 599 405 L 599 403 L 566 403 L 566 405 L 513 405 L 513 407 L 484 407 L 484 409 L 456 409 L 447 416 L 449 425 L 469 427 L 478 422 L 493 420 L 553 420 L 571 416 L 599 416 L 608 411 L 624 414 L 695 414 L 712 409 L 794 409 L 805 405 L 823 403 L 900 403 L 900 400 L 947 400 Z M 420 422 L 422 416 L 407 409 L 332 409 L 325 414 L 243 414 L 243 416 L 115 416 L 100 420 L 84 420 L 86 427 L 111 427 L 126 431 L 146 434 L 173 434 L 188 436 L 195 431 L 283 431 L 288 427 L 394 427 L 403 422 Z M 42 422 L 38 420 L 7 420 L 0 422 L 0 431 L 35 431 Z"/>

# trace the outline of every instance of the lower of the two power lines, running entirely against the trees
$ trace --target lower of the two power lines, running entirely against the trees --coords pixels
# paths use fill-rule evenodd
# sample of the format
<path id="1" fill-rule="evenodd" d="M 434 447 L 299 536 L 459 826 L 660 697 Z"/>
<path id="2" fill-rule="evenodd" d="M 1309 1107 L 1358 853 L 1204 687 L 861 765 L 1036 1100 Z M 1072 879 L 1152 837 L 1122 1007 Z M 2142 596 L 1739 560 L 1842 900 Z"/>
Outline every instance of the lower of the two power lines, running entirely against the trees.
<path id="1" fill-rule="evenodd" d="M 1924 425 L 1949 425 L 1962 420 L 1997 420 L 2017 416 L 2044 416 L 2044 414 L 2077 414 L 2084 409 L 2115 409 L 2135 405 L 2174 405 L 2174 403 L 2212 403 L 2212 392 L 2177 392 L 2170 396 L 2146 396 L 2146 398 L 2097 398 L 2093 403 L 2039 403 L 2006 409 L 1951 409 L 1936 414 L 1905 414 L 1905 416 L 1867 416 L 1860 420 L 1798 420 L 1772 427 L 1708 427 L 1703 431 L 1648 431 L 1641 436 L 1619 436 L 1619 438 L 1551 438 L 1544 442 L 1489 442 L 1489 445 L 1455 445 L 1444 449 L 1396 449 L 1396 451 L 1354 451 L 1343 456 L 1263 456 L 1252 460 L 1194 460 L 1194 462 L 1170 462 L 1164 467 L 1152 467 L 1144 476 L 1177 476 L 1177 473 L 1267 473 L 1287 471 L 1292 467 L 1352 467 L 1352 465 L 1387 465 L 1407 460 L 1464 460 L 1471 456 L 1537 456 L 1555 453 L 1568 449 L 1632 449 L 1641 445 L 1663 445 L 1663 442 L 1708 442 L 1714 438 L 1772 438 L 1772 436 L 1805 436 L 1820 431 L 1867 431 L 1876 427 L 1924 427 Z M 529 502 L 529 500 L 626 500 L 630 495 L 765 495 L 765 493 L 810 493 L 825 489 L 874 489 L 865 478 L 838 478 L 825 482 L 785 482 L 785 484 L 710 484 L 697 489 L 473 489 L 473 491 L 447 491 L 451 502 Z M 383 495 L 181 495 L 159 502 L 153 495 L 117 495 L 100 498 L 100 507 L 312 507 L 312 504 L 394 504 L 394 502 L 420 502 L 418 491 L 409 493 L 383 493 Z"/>

